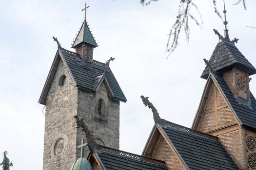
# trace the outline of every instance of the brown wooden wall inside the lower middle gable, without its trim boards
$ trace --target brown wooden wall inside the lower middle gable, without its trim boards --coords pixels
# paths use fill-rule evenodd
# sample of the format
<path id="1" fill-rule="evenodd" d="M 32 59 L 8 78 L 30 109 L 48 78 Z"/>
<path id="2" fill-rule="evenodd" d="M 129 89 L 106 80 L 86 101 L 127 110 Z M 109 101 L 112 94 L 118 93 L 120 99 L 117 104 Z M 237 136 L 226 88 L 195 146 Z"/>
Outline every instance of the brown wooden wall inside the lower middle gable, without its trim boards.
<path id="1" fill-rule="evenodd" d="M 153 153 L 152 157 L 154 159 L 165 161 L 168 170 L 187 170 L 164 138 L 161 137 L 155 151 L 156 152 Z"/>

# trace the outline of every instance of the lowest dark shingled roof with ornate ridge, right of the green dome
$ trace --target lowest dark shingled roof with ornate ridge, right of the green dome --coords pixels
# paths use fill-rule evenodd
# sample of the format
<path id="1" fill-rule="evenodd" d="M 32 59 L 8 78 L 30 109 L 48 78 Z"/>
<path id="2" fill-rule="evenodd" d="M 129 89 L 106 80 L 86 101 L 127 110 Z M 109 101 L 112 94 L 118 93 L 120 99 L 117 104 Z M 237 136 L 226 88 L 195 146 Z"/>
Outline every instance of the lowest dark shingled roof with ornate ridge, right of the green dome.
<path id="1" fill-rule="evenodd" d="M 94 153 L 105 170 L 168 170 L 164 161 L 99 146 Z"/>

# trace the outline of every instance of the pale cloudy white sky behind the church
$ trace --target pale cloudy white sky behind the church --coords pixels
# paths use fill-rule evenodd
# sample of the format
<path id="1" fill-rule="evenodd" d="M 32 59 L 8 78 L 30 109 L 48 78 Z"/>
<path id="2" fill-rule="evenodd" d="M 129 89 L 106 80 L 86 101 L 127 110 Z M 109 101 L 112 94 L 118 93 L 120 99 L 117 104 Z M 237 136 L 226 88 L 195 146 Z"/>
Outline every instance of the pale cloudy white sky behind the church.
<path id="1" fill-rule="evenodd" d="M 230 38 L 256 66 L 256 1 L 226 0 Z M 0 153 L 8 151 L 11 170 L 42 169 L 44 116 L 38 103 L 57 51 L 52 36 L 72 50 L 81 26 L 84 0 L 1 0 L 0 3 Z M 222 21 L 212 0 L 195 0 L 202 30 L 191 20 L 190 42 L 180 36 L 177 50 L 166 60 L 167 34 L 177 15 L 179 0 L 159 0 L 142 7 L 139 0 L 87 0 L 87 21 L 98 47 L 94 59 L 110 63 L 126 98 L 120 106 L 120 149 L 140 154 L 154 125 L 151 110 L 140 95 L 150 97 L 160 117 L 190 127 L 205 80 L 200 75 L 218 37 Z M 217 0 L 222 14 L 222 0 Z M 195 10 L 192 14 L 199 19 Z M 72 50 L 73 51 L 73 50 Z M 256 76 L 250 88 L 256 94 Z M 0 155 L 0 161 L 2 155 Z"/>

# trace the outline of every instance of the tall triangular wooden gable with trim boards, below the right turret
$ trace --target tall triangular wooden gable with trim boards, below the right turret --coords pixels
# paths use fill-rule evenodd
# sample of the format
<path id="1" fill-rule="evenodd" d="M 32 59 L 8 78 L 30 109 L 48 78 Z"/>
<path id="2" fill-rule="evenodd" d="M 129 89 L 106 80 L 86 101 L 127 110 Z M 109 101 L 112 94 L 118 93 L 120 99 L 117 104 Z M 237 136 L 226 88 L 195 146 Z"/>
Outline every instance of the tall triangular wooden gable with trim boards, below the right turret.
<path id="1" fill-rule="evenodd" d="M 214 75 L 207 79 L 192 128 L 201 132 L 241 124 Z"/>

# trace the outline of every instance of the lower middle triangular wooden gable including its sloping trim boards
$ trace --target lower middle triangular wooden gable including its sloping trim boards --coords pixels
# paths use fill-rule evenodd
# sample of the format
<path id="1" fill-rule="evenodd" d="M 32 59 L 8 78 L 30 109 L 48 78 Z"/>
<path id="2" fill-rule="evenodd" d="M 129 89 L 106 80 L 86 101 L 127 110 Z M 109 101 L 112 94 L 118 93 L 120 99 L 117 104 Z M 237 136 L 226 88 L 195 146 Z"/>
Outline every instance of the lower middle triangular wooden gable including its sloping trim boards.
<path id="1" fill-rule="evenodd" d="M 158 124 L 155 124 L 153 127 L 142 155 L 165 161 L 168 169 L 189 170 L 172 142 L 166 137 Z"/>

